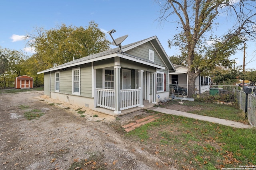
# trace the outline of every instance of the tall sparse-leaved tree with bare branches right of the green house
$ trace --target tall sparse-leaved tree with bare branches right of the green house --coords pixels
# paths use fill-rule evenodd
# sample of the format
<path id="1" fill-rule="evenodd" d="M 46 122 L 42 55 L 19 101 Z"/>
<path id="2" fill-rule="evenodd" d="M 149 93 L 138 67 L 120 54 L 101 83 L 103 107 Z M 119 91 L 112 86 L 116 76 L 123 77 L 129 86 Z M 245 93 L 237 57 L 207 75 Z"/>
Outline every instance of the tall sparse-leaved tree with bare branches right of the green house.
<path id="1" fill-rule="evenodd" d="M 210 72 L 216 66 L 230 67 L 229 57 L 244 40 L 256 38 L 256 1 L 253 0 L 156 0 L 161 7 L 160 22 L 176 22 L 180 31 L 169 40 L 169 47 L 177 45 L 186 53 L 188 84 L 195 84 L 202 72 Z M 234 25 L 222 36 L 214 35 L 218 19 L 226 15 Z M 175 19 L 177 18 L 177 19 Z M 214 27 L 216 26 L 216 27 Z M 213 29 L 214 27 L 214 29 Z M 170 28 L 173 31 L 173 28 Z M 218 30 L 217 30 L 218 31 Z M 212 41 L 212 44 L 207 44 Z M 198 54 L 198 55 L 196 55 Z M 189 86 L 188 96 L 195 94 Z"/>

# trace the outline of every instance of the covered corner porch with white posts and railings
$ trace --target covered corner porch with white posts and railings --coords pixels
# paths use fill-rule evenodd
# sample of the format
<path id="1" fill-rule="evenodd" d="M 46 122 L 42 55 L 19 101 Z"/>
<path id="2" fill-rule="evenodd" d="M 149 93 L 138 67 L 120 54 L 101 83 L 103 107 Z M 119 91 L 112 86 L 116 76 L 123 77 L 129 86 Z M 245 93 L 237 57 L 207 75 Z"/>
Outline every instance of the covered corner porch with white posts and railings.
<path id="1" fill-rule="evenodd" d="M 147 108 L 156 104 L 156 72 L 120 66 L 96 71 L 99 75 L 101 72 L 102 88 L 95 89 L 95 111 L 122 115 L 145 108 L 145 103 Z"/>

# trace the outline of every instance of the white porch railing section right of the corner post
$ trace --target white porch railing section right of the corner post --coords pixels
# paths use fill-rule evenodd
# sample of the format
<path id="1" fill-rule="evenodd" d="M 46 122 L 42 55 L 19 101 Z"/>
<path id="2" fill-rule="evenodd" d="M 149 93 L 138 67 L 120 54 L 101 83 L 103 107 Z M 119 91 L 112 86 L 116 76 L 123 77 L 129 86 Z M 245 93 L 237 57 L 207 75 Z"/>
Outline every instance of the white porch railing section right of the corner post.
<path id="1" fill-rule="evenodd" d="M 120 110 L 140 106 L 140 89 L 120 90 Z"/>

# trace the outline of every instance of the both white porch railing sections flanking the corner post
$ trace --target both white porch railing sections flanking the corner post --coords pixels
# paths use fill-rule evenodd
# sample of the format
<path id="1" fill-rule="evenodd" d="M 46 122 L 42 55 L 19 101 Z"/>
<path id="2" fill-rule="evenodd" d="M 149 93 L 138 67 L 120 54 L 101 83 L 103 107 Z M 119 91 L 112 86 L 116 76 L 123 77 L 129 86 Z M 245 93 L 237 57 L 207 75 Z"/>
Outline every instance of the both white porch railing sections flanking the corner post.
<path id="1" fill-rule="evenodd" d="M 120 90 L 120 111 L 141 106 L 141 89 Z M 112 89 L 96 88 L 96 104 L 99 107 L 115 110 L 115 91 Z"/>

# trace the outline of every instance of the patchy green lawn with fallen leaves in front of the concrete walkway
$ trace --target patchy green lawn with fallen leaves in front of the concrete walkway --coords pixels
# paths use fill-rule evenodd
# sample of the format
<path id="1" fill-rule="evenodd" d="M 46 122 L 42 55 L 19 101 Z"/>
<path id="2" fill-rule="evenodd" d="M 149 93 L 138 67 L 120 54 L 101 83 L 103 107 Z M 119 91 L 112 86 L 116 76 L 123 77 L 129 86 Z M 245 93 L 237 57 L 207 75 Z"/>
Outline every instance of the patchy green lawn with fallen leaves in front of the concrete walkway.
<path id="1" fill-rule="evenodd" d="M 256 129 L 236 129 L 187 117 L 156 113 L 154 122 L 125 133 L 142 150 L 159 155 L 159 166 L 214 170 L 256 165 Z M 172 158 L 172 160 L 168 159 Z"/>

